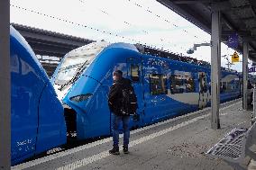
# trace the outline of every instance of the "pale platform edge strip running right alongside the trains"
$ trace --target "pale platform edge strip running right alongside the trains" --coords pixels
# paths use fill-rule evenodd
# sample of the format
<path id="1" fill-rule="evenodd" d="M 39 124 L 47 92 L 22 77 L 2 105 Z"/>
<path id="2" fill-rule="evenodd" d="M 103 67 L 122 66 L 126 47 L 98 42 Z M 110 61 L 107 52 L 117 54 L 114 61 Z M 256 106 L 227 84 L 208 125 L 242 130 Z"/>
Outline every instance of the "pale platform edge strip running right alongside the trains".
<path id="1" fill-rule="evenodd" d="M 228 102 L 228 103 L 233 103 L 233 102 L 236 102 L 236 101 L 239 101 L 240 99 L 237 99 L 237 100 L 234 100 L 234 101 L 231 101 L 231 102 Z M 238 103 L 242 103 L 242 101 L 238 102 Z M 228 106 L 225 106 L 224 108 L 221 108 L 220 111 L 224 111 L 225 109 L 228 109 L 230 107 L 233 107 L 234 105 L 238 104 L 238 103 L 233 103 L 231 105 L 228 105 Z M 226 104 L 226 103 L 223 103 L 223 104 Z M 222 104 L 222 105 L 223 105 Z M 156 124 L 152 124 L 150 126 L 147 126 L 147 127 L 143 127 L 141 129 L 137 129 L 137 130 L 133 130 L 131 131 L 131 134 L 135 134 L 135 133 L 138 133 L 138 132 L 141 132 L 143 130 L 150 130 L 152 128 L 155 128 L 155 127 L 158 127 L 160 125 L 163 125 L 163 124 L 167 124 L 171 121 L 177 121 L 179 119 L 183 119 L 183 118 L 186 118 L 188 116 L 193 116 L 195 114 L 199 114 L 201 112 L 207 112 L 207 111 L 210 111 L 211 108 L 206 108 L 204 110 L 200 110 L 200 111 L 197 111 L 197 112 L 192 112 L 192 113 L 188 113 L 186 115 L 183 115 L 183 116 L 179 116 L 177 118 L 174 118 L 174 119 L 170 119 L 170 120 L 167 120 L 167 121 L 161 121 L 161 122 L 158 122 Z M 204 116 L 209 116 L 210 114 L 206 114 Z M 186 121 L 187 122 L 187 121 Z M 123 135 L 122 135 L 123 136 Z M 122 138 L 121 136 L 121 138 Z M 98 145 L 102 145 L 106 142 L 109 142 L 111 141 L 112 139 L 111 138 L 107 138 L 107 139 L 102 139 L 102 140 L 98 140 L 96 142 L 93 142 L 93 143 L 89 143 L 87 145 L 84 145 L 84 146 L 80 146 L 78 148 L 71 148 L 69 150 L 65 150 L 65 151 L 62 151 L 62 152 L 59 152 L 57 154 L 53 154 L 53 155 L 50 155 L 50 156 L 47 156 L 47 157 L 41 157 L 39 159 L 35 159 L 35 160 L 32 160 L 32 161 L 29 161 L 29 162 L 26 162 L 26 163 L 23 163 L 23 164 L 20 164 L 20 165 L 17 165 L 17 166 L 13 166 L 12 167 L 12 170 L 20 170 L 20 169 L 25 169 L 25 168 L 29 168 L 29 167 L 32 167 L 32 166 L 37 166 L 37 165 L 40 165 L 42 163 L 45 163 L 45 162 L 48 162 L 48 161 L 51 161 L 51 160 L 54 160 L 56 158 L 59 158 L 59 157 L 65 157 L 65 156 L 68 156 L 70 154 L 74 154 L 74 153 L 77 153 L 79 151 L 82 151 L 82 150 L 85 150 L 87 148 L 94 148 Z"/>

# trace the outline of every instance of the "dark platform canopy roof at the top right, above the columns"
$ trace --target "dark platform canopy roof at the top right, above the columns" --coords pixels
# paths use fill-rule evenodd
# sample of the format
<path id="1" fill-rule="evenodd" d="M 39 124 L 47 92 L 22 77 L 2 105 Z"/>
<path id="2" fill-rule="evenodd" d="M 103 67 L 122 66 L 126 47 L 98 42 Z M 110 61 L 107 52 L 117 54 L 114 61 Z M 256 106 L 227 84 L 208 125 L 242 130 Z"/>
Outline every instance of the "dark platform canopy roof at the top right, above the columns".
<path id="1" fill-rule="evenodd" d="M 238 51 L 242 52 L 242 40 L 250 45 L 249 58 L 256 62 L 256 1 L 255 0 L 158 0 L 189 22 L 211 33 L 211 12 L 222 13 L 222 40 L 226 42 L 238 33 Z"/>

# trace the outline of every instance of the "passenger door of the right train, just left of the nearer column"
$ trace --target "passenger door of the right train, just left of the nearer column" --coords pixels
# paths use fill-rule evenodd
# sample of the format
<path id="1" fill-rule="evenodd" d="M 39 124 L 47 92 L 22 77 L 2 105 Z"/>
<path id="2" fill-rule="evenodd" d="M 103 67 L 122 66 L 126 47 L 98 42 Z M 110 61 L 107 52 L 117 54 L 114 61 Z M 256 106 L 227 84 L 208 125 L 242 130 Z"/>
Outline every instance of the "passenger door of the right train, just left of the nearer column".
<path id="1" fill-rule="evenodd" d="M 207 98 L 208 98 L 205 72 L 198 72 L 198 82 L 199 82 L 198 108 L 203 109 L 206 107 Z"/>

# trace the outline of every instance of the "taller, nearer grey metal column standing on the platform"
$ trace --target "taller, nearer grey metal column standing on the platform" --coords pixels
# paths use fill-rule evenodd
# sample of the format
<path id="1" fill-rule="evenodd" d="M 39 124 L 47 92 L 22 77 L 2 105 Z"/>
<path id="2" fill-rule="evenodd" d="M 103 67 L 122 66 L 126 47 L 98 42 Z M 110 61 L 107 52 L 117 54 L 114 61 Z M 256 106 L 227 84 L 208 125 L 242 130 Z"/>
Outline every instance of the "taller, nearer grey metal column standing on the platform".
<path id="1" fill-rule="evenodd" d="M 211 91 L 212 119 L 211 127 L 220 129 L 220 71 L 221 71 L 221 13 L 212 12 L 212 49 L 211 49 Z"/>

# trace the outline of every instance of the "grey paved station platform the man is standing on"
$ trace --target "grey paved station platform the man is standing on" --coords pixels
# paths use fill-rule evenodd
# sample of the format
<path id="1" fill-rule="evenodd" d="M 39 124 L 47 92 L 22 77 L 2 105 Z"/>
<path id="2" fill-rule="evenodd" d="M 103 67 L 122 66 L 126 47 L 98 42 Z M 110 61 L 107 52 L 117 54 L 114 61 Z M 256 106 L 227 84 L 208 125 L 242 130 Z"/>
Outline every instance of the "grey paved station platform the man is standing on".
<path id="1" fill-rule="evenodd" d="M 130 153 L 127 155 L 123 154 L 122 148 L 121 155 L 109 155 L 112 138 L 107 138 L 13 166 L 12 169 L 232 170 L 233 167 L 223 160 L 207 157 L 205 153 L 234 128 L 249 128 L 251 111 L 242 110 L 241 99 L 221 104 L 220 130 L 210 128 L 210 111 L 206 108 L 131 131 Z M 250 158 L 242 166 L 256 169 L 256 163 Z"/>

